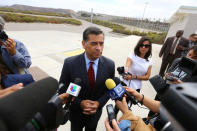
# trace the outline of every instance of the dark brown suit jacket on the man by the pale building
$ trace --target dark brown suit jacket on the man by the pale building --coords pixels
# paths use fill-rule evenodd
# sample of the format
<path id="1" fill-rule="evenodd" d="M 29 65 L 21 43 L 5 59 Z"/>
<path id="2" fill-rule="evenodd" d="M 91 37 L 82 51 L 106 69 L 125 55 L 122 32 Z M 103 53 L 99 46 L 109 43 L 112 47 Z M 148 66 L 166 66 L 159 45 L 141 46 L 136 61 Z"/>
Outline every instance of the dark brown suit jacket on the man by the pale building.
<path id="1" fill-rule="evenodd" d="M 167 57 L 168 57 L 168 55 L 170 53 L 170 50 L 172 48 L 172 44 L 174 42 L 174 39 L 176 39 L 175 36 L 168 37 L 167 40 L 165 41 L 165 43 L 163 44 L 163 46 L 162 46 L 162 48 L 160 50 L 160 53 L 159 53 L 159 57 L 161 57 L 163 55 L 163 60 L 167 59 Z M 178 45 L 182 46 L 186 50 L 189 47 L 189 40 L 184 38 L 184 37 L 181 37 Z M 181 52 L 183 50 L 177 50 L 176 49 L 176 51 L 175 51 L 176 58 L 181 57 Z"/>

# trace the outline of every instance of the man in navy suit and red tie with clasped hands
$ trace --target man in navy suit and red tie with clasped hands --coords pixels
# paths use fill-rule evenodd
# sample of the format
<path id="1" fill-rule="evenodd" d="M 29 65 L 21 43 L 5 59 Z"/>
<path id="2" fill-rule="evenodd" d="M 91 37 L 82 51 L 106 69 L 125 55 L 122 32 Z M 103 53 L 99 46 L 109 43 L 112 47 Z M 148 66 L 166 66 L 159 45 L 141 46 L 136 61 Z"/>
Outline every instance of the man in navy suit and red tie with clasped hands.
<path id="1" fill-rule="evenodd" d="M 104 33 L 99 28 L 89 27 L 83 32 L 82 46 L 85 53 L 65 59 L 59 82 L 67 88 L 76 78 L 82 80 L 79 96 L 70 108 L 71 131 L 82 131 L 83 127 L 95 131 L 102 107 L 109 100 L 105 80 L 114 77 L 115 65 L 102 56 Z"/>

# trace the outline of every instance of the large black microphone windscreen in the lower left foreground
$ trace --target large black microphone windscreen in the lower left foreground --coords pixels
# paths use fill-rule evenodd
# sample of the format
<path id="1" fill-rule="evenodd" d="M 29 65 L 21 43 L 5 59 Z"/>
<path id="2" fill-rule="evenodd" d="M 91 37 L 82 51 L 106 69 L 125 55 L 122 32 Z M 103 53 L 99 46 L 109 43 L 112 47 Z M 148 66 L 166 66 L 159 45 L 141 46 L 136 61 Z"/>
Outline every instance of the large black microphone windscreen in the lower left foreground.
<path id="1" fill-rule="evenodd" d="M 40 112 L 56 93 L 58 82 L 48 77 L 0 99 L 0 117 L 9 130 L 19 130 Z"/>

